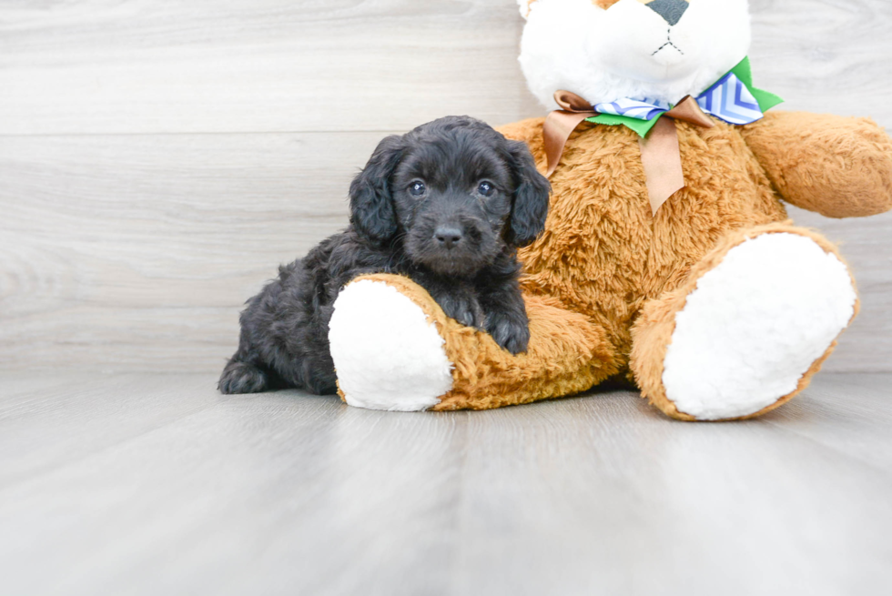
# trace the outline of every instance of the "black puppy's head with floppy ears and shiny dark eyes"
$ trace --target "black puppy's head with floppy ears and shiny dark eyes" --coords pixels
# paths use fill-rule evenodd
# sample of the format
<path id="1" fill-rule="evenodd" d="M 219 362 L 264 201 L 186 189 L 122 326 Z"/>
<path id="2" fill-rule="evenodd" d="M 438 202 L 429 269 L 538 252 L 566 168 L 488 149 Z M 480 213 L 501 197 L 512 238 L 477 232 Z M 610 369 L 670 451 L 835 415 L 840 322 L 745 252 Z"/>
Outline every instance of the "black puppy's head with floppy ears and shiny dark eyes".
<path id="1" fill-rule="evenodd" d="M 523 143 L 448 116 L 380 142 L 350 185 L 350 222 L 437 273 L 471 276 L 542 233 L 549 191 Z"/>

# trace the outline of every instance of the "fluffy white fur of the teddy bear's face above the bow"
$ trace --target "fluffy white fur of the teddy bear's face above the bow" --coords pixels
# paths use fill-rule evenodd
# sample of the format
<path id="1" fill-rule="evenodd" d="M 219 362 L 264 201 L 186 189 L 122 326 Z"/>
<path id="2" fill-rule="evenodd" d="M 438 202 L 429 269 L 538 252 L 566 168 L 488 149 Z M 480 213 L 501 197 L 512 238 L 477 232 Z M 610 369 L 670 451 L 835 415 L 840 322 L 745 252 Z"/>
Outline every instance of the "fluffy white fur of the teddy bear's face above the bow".
<path id="1" fill-rule="evenodd" d="M 519 2 L 523 12 L 527 0 Z M 624 97 L 674 104 L 703 93 L 750 45 L 747 0 L 690 0 L 674 26 L 638 0 L 607 9 L 592 0 L 537 0 L 527 18 L 523 75 L 550 109 L 559 89 L 593 106 Z"/>

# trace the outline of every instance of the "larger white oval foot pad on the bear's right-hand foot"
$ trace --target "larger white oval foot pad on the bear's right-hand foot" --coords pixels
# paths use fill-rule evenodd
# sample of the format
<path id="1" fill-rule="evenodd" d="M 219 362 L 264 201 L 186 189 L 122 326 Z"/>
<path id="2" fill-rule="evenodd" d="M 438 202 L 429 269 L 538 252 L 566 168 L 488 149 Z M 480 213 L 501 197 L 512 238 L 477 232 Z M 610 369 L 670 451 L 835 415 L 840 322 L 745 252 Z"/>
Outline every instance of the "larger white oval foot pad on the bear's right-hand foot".
<path id="1" fill-rule="evenodd" d="M 846 265 L 810 238 L 749 239 L 697 281 L 675 315 L 666 397 L 701 420 L 755 414 L 796 391 L 856 303 Z"/>

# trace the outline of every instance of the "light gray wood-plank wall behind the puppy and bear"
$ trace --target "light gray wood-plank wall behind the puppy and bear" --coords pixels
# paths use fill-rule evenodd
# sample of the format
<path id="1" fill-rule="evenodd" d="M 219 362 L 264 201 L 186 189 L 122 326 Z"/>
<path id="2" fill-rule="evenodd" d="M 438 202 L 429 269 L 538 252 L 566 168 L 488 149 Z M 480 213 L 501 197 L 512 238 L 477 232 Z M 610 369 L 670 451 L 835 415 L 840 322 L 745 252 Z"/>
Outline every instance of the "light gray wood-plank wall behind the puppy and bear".
<path id="1" fill-rule="evenodd" d="M 753 0 L 756 82 L 892 128 L 892 2 Z M 0 368 L 216 370 L 241 303 L 346 221 L 381 136 L 542 115 L 514 0 L 0 0 Z M 843 243 L 892 370 L 892 216 Z"/>

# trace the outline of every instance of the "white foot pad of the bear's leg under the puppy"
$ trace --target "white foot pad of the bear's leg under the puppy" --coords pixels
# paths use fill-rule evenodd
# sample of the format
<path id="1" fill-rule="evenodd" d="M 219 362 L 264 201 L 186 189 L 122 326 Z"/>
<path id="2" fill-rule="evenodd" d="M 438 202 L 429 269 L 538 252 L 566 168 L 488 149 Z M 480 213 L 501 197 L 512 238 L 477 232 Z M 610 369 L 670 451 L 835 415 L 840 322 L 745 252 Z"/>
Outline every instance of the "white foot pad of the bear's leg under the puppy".
<path id="1" fill-rule="evenodd" d="M 329 323 L 331 358 L 351 406 L 430 409 L 452 388 L 443 338 L 396 288 L 363 279 L 341 290 Z"/>

